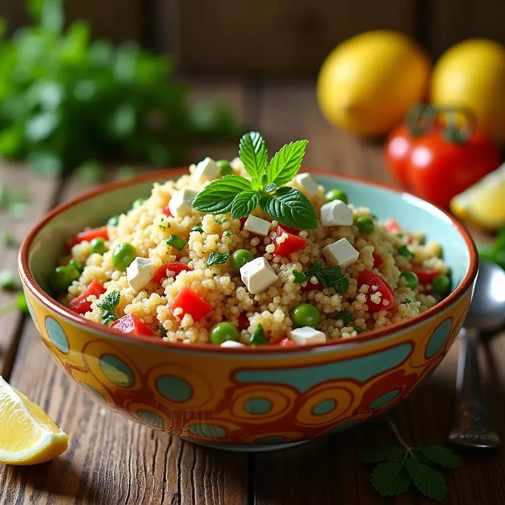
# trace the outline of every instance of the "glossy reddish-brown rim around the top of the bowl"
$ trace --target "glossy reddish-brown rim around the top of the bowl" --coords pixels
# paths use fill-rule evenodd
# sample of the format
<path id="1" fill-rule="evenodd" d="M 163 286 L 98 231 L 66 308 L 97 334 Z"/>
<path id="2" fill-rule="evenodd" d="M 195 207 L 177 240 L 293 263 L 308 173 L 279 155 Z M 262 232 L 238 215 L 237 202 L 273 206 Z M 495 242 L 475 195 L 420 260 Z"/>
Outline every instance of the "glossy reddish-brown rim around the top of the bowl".
<path id="1" fill-rule="evenodd" d="M 174 348 L 174 349 L 185 349 L 187 351 L 202 351 L 205 350 L 206 352 L 218 352 L 218 353 L 243 353 L 243 352 L 251 352 L 251 349 L 248 347 L 232 347 L 232 348 L 227 348 L 227 347 L 220 347 L 216 345 L 210 345 L 208 343 L 194 343 L 194 344 L 184 344 L 182 342 L 169 342 L 160 339 L 153 339 L 153 337 L 148 337 L 144 335 L 135 335 L 135 334 L 120 334 L 119 332 L 116 332 L 114 330 L 111 330 L 108 326 L 103 326 L 98 323 L 95 323 L 93 321 L 89 321 L 87 319 L 84 319 L 83 317 L 79 316 L 78 314 L 75 314 L 71 312 L 69 309 L 67 309 L 65 306 L 60 304 L 57 300 L 51 298 L 47 293 L 45 293 L 41 287 L 37 284 L 33 276 L 31 275 L 31 272 L 28 268 L 28 251 L 30 250 L 31 243 L 33 242 L 33 239 L 37 236 L 39 231 L 49 222 L 51 221 L 55 216 L 62 214 L 65 212 L 67 209 L 73 207 L 76 204 L 79 204 L 83 202 L 84 200 L 87 200 L 89 198 L 92 198 L 98 194 L 105 193 L 111 190 L 119 189 L 122 187 L 127 187 L 127 186 L 134 186 L 136 184 L 146 182 L 149 180 L 153 179 L 160 179 L 166 177 L 167 179 L 173 179 L 174 177 L 177 177 L 179 175 L 182 175 L 184 173 L 187 173 L 187 168 L 172 168 L 172 169 L 166 169 L 166 170 L 159 170 L 159 171 L 154 171 L 154 172 L 149 172 L 148 174 L 143 174 L 139 175 L 136 177 L 133 177 L 131 179 L 127 179 L 124 181 L 118 181 L 118 182 L 112 182 L 109 184 L 104 184 L 96 189 L 93 189 L 91 191 L 88 191 L 80 196 L 77 196 L 76 198 L 73 198 L 55 209 L 53 209 L 51 212 L 46 214 L 28 233 L 26 238 L 23 240 L 23 243 L 21 244 L 20 251 L 19 251 L 19 262 L 18 262 L 18 268 L 19 268 L 19 273 L 21 276 L 21 279 L 25 286 L 28 288 L 30 293 L 34 295 L 40 302 L 42 302 L 43 305 L 51 309 L 52 311 L 56 312 L 60 316 L 62 316 L 64 319 L 70 320 L 74 323 L 76 323 L 78 326 L 82 326 L 84 328 L 89 328 L 93 329 L 95 331 L 98 331 L 99 333 L 104 334 L 105 336 L 109 337 L 115 337 L 115 339 L 120 338 L 126 338 L 129 340 L 133 340 L 137 343 L 148 343 L 150 345 L 156 345 L 160 347 L 168 347 L 168 348 Z M 394 188 L 391 186 L 388 186 L 387 184 L 382 184 L 374 181 L 367 180 L 362 177 L 356 177 L 356 176 L 349 176 L 349 175 L 343 175 L 343 174 L 338 174 L 329 170 L 325 169 L 311 169 L 305 167 L 303 172 L 311 172 L 315 174 L 321 174 L 327 177 L 338 177 L 340 179 L 347 179 L 350 181 L 358 181 L 365 183 L 369 186 L 375 186 L 381 189 L 386 189 L 389 191 L 393 191 L 395 193 L 400 193 L 400 194 L 410 194 L 407 191 L 403 191 L 402 189 Z M 411 195 L 414 198 L 417 198 L 420 201 L 425 201 L 422 198 L 419 198 L 418 196 Z M 297 346 L 292 346 L 292 347 L 279 347 L 276 345 L 265 345 L 265 346 L 258 346 L 255 347 L 255 350 L 253 352 L 261 352 L 262 354 L 267 353 L 267 354 L 284 354 L 286 352 L 304 352 L 308 351 L 311 349 L 316 349 L 316 348 L 330 348 L 334 346 L 339 346 L 342 344 L 351 344 L 351 343 L 356 343 L 360 344 L 363 342 L 369 342 L 372 340 L 378 340 L 382 337 L 391 335 L 393 333 L 396 333 L 397 331 L 402 331 L 402 330 L 407 330 L 410 327 L 416 326 L 419 323 L 426 321 L 437 314 L 443 312 L 445 309 L 447 309 L 449 306 L 451 306 L 454 302 L 456 302 L 458 299 L 460 299 L 473 285 L 475 281 L 475 277 L 477 275 L 477 270 L 478 270 L 478 256 L 477 256 L 477 249 L 475 247 L 474 241 L 472 237 L 470 236 L 469 232 L 463 226 L 459 221 L 454 219 L 448 212 L 446 212 L 444 209 L 438 207 L 435 204 L 427 202 L 433 209 L 438 210 L 439 212 L 443 213 L 452 223 L 452 225 L 457 228 L 457 230 L 460 232 L 462 237 L 464 238 L 466 245 L 468 247 L 469 253 L 470 253 L 470 266 L 469 269 L 465 275 L 465 278 L 461 282 L 461 284 L 457 287 L 457 289 L 453 292 L 451 292 L 446 298 L 444 298 L 442 301 L 440 301 L 438 304 L 436 304 L 434 307 L 431 309 L 428 309 L 426 312 L 423 312 L 419 316 L 416 316 L 415 318 L 408 319 L 407 321 L 402 321 L 399 323 L 395 323 L 391 326 L 387 326 L 385 328 L 381 328 L 378 330 L 372 330 L 369 332 L 366 332 L 364 334 L 358 334 L 356 337 L 349 337 L 349 338 L 341 338 L 341 339 L 335 339 L 335 340 L 329 340 L 324 343 L 319 343 L 319 344 L 308 344 L 308 345 L 297 345 Z"/>

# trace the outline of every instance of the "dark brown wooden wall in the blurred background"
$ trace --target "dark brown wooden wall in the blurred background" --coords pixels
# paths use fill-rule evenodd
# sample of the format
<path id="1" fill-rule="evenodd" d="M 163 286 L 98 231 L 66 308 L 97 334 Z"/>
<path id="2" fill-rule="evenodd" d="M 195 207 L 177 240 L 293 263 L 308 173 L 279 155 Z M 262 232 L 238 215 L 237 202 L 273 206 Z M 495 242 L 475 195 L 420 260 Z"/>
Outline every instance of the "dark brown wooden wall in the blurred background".
<path id="1" fill-rule="evenodd" d="M 392 28 L 433 58 L 453 43 L 505 43 L 505 0 L 66 0 L 67 18 L 95 36 L 174 53 L 186 73 L 314 73 L 331 49 L 364 30 Z M 24 0 L 0 0 L 12 27 Z"/>

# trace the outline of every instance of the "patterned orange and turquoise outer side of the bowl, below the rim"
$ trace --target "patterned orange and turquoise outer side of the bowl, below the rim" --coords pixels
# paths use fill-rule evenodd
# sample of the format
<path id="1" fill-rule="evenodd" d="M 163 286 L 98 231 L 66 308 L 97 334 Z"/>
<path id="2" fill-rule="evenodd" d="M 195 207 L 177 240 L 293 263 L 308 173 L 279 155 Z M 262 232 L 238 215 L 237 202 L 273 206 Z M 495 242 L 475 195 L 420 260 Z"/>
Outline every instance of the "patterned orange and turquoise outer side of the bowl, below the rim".
<path id="1" fill-rule="evenodd" d="M 312 439 L 384 413 L 443 359 L 471 294 L 383 338 L 252 356 L 111 338 L 25 291 L 47 348 L 96 401 L 152 428 L 244 449 Z"/>

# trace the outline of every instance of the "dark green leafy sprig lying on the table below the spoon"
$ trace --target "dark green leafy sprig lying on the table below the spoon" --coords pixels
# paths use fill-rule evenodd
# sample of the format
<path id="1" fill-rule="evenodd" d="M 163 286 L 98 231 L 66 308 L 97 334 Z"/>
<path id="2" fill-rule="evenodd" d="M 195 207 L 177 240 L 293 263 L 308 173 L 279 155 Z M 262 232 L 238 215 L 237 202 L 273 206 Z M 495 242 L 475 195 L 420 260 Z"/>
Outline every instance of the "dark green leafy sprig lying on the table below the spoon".
<path id="1" fill-rule="evenodd" d="M 463 466 L 458 455 L 442 445 L 411 447 L 400 436 L 396 425 L 388 421 L 400 445 L 385 445 L 365 452 L 360 461 L 378 464 L 372 472 L 372 485 L 381 496 L 407 492 L 411 484 L 428 498 L 442 501 L 447 485 L 434 466 L 457 469 Z"/>

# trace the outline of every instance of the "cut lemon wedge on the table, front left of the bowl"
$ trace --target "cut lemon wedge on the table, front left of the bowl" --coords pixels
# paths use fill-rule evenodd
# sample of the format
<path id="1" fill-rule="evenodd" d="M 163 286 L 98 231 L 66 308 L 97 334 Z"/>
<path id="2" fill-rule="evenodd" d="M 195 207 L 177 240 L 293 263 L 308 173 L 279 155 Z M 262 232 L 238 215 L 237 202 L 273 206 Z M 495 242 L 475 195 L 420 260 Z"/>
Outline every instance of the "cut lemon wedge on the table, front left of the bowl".
<path id="1" fill-rule="evenodd" d="M 0 463 L 35 465 L 67 450 L 68 435 L 0 376 Z"/>

